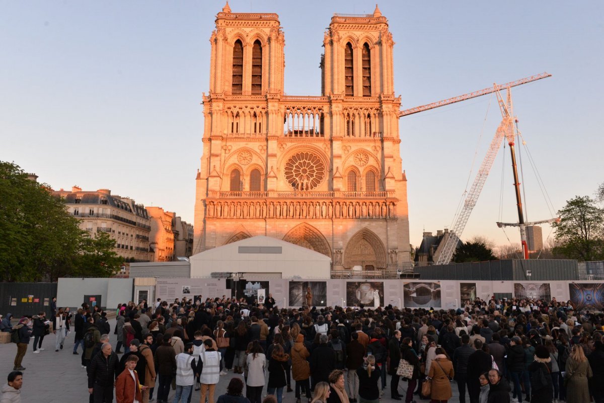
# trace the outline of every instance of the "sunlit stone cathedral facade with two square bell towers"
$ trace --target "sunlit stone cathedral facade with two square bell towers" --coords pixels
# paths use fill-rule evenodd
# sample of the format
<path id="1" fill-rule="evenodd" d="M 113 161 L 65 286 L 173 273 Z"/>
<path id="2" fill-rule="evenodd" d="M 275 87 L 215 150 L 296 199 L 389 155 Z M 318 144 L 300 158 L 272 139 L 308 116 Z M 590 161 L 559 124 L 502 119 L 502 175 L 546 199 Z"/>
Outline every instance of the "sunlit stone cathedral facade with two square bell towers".
<path id="1" fill-rule="evenodd" d="M 276 14 L 227 3 L 210 42 L 193 253 L 263 235 L 323 253 L 333 270 L 408 268 L 394 42 L 379 9 L 333 16 L 321 96 L 285 95 Z"/>

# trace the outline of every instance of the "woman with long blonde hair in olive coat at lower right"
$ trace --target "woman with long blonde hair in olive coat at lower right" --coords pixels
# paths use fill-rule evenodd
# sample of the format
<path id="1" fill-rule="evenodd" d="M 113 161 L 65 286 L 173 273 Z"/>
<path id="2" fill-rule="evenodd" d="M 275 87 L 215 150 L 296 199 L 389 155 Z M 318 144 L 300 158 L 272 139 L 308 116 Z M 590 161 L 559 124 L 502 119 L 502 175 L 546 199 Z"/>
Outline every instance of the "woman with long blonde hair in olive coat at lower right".
<path id="1" fill-rule="evenodd" d="M 587 379 L 591 378 L 590 363 L 580 344 L 575 344 L 568 356 L 564 381 L 567 384 L 567 402 L 585 403 L 591 401 Z"/>

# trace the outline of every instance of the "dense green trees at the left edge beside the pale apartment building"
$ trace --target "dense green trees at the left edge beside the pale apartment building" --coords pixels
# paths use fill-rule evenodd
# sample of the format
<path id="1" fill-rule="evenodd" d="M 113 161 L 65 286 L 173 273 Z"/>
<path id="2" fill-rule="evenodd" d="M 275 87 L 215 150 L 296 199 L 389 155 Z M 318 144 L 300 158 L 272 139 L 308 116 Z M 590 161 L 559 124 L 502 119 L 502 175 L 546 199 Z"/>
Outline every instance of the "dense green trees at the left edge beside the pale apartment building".
<path id="1" fill-rule="evenodd" d="M 89 239 L 47 185 L 0 161 L 0 281 L 110 276 L 121 258 L 103 235 Z"/>

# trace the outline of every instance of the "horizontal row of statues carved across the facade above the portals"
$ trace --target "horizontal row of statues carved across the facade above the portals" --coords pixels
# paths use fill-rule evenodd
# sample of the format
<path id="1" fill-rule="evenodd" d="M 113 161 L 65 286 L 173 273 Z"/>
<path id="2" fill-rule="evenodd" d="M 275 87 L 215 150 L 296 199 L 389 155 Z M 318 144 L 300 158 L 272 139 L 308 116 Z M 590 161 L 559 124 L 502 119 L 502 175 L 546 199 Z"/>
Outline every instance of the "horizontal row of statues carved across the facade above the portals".
<path id="1" fill-rule="evenodd" d="M 394 202 L 210 201 L 207 218 L 384 219 L 396 218 Z"/>

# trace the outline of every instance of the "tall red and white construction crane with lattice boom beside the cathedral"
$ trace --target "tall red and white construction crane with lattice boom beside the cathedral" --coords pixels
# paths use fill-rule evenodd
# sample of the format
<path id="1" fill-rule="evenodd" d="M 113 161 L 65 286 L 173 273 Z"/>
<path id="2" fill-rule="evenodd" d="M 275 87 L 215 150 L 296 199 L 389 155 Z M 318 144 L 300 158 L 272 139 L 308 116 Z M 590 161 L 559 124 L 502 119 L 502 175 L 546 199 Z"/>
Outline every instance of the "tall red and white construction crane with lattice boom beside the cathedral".
<path id="1" fill-rule="evenodd" d="M 467 192 L 466 198 L 463 202 L 463 208 L 457 219 L 455 220 L 455 224 L 449 233 L 449 237 L 443 246 L 443 250 L 439 255 L 439 259 L 437 260 L 437 264 L 446 265 L 451 262 L 451 258 L 457 248 L 457 245 L 460 241 L 461 234 L 463 233 L 464 228 L 466 227 L 467 220 L 470 218 L 470 214 L 478 201 L 478 196 L 480 196 L 480 192 L 483 189 L 484 182 L 486 182 L 487 176 L 489 176 L 489 172 L 491 167 L 493 166 L 493 162 L 495 161 L 495 157 L 499 151 L 500 145 L 503 140 L 507 140 L 510 145 L 510 151 L 512 152 L 512 166 L 514 170 L 514 185 L 516 188 L 516 204 L 518 205 L 518 218 L 519 218 L 519 226 L 521 227 L 521 239 L 523 249 L 525 251 L 525 258 L 528 257 L 528 250 L 526 247 L 526 234 L 524 231 L 524 227 L 527 225 L 524 223 L 524 218 L 522 216 L 522 202 L 520 198 L 520 188 L 518 181 L 518 172 L 516 170 L 516 156 L 515 149 L 513 145 L 515 144 L 516 137 L 516 127 L 515 123 L 517 122 L 516 118 L 513 117 L 513 108 L 512 108 L 512 90 L 513 86 L 518 86 L 526 83 L 530 83 L 536 80 L 545 79 L 547 77 L 551 77 L 551 74 L 542 73 L 537 74 L 536 76 L 526 77 L 525 79 L 516 80 L 513 82 L 509 82 L 502 85 L 493 84 L 491 88 L 485 88 L 480 91 L 470 92 L 469 94 L 460 95 L 454 98 L 448 98 L 446 100 L 442 100 L 439 102 L 430 103 L 428 105 L 418 106 L 416 108 L 406 109 L 405 111 L 399 112 L 399 117 L 416 114 L 417 112 L 427 111 L 429 109 L 439 108 L 440 106 L 451 105 L 455 102 L 460 102 L 463 100 L 480 97 L 481 95 L 491 94 L 495 92 L 497 95 L 498 103 L 500 106 L 502 120 L 497 130 L 495 132 L 495 137 L 490 143 L 489 150 L 487 151 L 486 156 L 484 156 L 483 163 L 478 169 L 478 173 L 474 182 L 472 183 L 472 187 L 469 192 Z M 507 97 L 504 98 L 501 96 L 501 90 L 507 89 Z"/>

